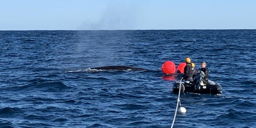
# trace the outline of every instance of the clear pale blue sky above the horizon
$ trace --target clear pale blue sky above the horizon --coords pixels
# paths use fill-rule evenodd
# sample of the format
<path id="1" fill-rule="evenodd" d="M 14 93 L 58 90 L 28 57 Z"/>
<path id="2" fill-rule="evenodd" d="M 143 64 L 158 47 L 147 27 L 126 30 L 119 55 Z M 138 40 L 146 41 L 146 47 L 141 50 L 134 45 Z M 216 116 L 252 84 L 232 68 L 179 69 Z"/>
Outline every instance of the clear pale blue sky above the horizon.
<path id="1" fill-rule="evenodd" d="M 256 29 L 256 0 L 1 0 L 0 30 Z"/>

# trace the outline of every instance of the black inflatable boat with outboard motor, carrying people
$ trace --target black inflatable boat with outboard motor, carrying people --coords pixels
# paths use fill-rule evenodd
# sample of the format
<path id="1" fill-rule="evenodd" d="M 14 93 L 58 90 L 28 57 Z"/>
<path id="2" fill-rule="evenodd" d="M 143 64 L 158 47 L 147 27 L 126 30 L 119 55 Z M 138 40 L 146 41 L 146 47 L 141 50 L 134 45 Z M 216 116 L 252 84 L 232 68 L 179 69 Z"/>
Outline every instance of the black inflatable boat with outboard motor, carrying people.
<path id="1" fill-rule="evenodd" d="M 172 91 L 174 93 L 179 93 L 179 87 L 180 92 L 190 92 L 190 93 L 197 93 L 197 94 L 221 94 L 222 93 L 222 87 L 217 82 L 213 82 L 211 80 L 208 80 L 207 84 L 202 84 L 202 80 L 205 76 L 205 73 L 200 71 L 195 75 L 195 78 L 193 79 L 193 82 L 190 81 L 176 81 L 172 87 Z M 181 84 L 181 85 L 180 85 Z"/>

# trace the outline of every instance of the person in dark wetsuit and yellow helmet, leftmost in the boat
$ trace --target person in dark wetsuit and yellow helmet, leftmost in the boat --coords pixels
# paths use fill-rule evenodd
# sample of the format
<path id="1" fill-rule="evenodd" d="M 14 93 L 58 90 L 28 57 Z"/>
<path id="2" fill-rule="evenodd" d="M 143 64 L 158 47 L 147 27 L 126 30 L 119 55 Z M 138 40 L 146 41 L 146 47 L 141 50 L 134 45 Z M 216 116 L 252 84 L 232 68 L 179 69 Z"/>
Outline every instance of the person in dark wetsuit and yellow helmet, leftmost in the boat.
<path id="1" fill-rule="evenodd" d="M 186 80 L 186 81 L 193 81 L 193 70 L 191 66 L 191 60 L 190 58 L 185 59 L 186 66 L 184 67 L 184 75 L 180 78 L 181 80 Z"/>

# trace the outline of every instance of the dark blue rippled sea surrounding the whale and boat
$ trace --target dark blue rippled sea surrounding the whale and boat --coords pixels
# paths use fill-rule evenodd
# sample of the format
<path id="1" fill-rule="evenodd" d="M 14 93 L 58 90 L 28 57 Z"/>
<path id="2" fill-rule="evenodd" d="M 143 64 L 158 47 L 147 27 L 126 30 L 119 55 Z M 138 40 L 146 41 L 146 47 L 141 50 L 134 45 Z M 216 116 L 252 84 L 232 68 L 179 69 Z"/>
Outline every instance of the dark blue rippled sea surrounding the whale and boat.
<path id="1" fill-rule="evenodd" d="M 170 128 L 165 61 L 190 57 L 221 95 L 181 93 L 174 128 L 256 127 L 256 30 L 0 31 L 1 128 Z M 126 65 L 150 71 L 91 71 Z"/>

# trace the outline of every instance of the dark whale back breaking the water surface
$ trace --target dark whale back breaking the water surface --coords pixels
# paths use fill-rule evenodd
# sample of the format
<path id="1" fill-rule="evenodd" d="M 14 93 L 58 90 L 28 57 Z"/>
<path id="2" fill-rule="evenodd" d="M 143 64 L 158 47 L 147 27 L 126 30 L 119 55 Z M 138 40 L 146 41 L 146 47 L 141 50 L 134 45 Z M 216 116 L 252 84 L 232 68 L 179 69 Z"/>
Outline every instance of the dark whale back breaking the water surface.
<path id="1" fill-rule="evenodd" d="M 96 69 L 96 70 L 132 70 L 132 71 L 149 71 L 148 69 L 144 68 L 137 68 L 137 67 L 131 67 L 131 66 L 119 66 L 119 65 L 114 65 L 114 66 L 103 66 L 103 67 L 93 67 L 90 68 L 91 70 Z"/>

